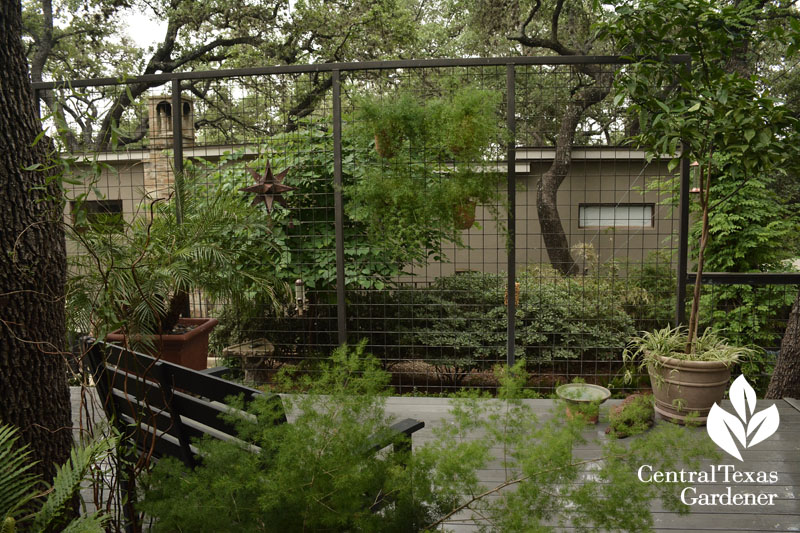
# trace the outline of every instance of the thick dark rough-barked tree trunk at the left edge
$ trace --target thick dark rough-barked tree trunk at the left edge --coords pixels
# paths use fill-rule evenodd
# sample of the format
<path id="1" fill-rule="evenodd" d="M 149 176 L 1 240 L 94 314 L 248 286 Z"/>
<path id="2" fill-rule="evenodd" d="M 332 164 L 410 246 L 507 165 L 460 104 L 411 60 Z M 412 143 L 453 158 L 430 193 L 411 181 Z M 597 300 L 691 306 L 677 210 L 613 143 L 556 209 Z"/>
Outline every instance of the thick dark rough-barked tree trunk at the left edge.
<path id="1" fill-rule="evenodd" d="M 51 481 L 72 445 L 65 346 L 66 252 L 58 180 L 49 142 L 35 143 L 20 1 L 0 2 L 0 423 L 29 444 Z M 48 183 L 49 182 L 49 183 Z"/>

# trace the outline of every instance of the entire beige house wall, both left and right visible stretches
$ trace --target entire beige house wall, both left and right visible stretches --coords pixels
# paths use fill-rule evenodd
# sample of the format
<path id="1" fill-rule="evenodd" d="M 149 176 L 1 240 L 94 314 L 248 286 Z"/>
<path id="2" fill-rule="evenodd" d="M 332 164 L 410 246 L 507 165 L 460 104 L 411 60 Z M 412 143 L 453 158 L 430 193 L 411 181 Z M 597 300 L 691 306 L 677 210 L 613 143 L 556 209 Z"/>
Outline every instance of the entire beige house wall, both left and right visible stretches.
<path id="1" fill-rule="evenodd" d="M 187 158 L 217 159 L 231 147 L 189 147 Z M 163 197 L 164 187 L 172 183 L 171 152 L 168 150 L 141 150 L 127 153 L 100 154 L 97 158 L 108 165 L 96 183 L 102 196 L 88 188 L 73 188 L 72 194 L 88 191 L 87 199 L 119 199 L 127 220 L 147 209 L 148 199 Z M 517 269 L 537 263 L 549 263 L 541 235 L 536 210 L 536 186 L 547 170 L 552 150 L 519 149 L 517 162 L 516 201 L 516 258 Z M 245 157 L 250 157 L 245 156 Z M 505 163 L 498 165 L 505 170 Z M 670 235 L 677 232 L 677 214 L 669 206 L 659 203 L 664 194 L 641 194 L 653 180 L 669 178 L 666 160 L 646 163 L 644 153 L 629 149 L 576 149 L 573 152 L 571 172 L 558 193 L 559 215 L 571 246 L 590 245 L 600 261 L 628 259 L 643 261 L 660 247 L 673 243 Z M 578 223 L 581 204 L 641 204 L 652 203 L 654 226 L 651 228 L 581 228 Z M 71 206 L 67 206 L 69 220 Z M 479 206 L 476 212 L 480 227 L 463 232 L 467 248 L 449 245 L 444 249 L 449 262 L 431 261 L 414 268 L 403 281 L 428 282 L 457 271 L 502 272 L 507 270 L 505 233 L 498 230 L 490 210 Z M 499 211 L 505 221 L 505 211 Z M 672 237 L 674 238 L 674 237 Z M 74 251 L 74 246 L 70 247 Z"/>

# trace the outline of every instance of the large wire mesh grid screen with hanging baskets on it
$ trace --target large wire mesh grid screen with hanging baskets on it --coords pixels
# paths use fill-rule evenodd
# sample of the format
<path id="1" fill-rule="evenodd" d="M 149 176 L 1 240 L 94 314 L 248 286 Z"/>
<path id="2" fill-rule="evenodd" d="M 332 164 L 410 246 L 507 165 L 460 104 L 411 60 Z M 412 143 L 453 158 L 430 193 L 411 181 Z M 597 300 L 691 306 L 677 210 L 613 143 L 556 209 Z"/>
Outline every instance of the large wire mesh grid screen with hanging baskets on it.
<path id="1" fill-rule="evenodd" d="M 504 64 L 184 76 L 52 91 L 61 107 L 43 114 L 69 132 L 64 149 L 94 154 L 75 164 L 68 223 L 173 209 L 178 183 L 259 210 L 264 227 L 232 238 L 247 243 L 245 266 L 270 271 L 271 291 L 200 288 L 190 306 L 220 321 L 209 355 L 249 381 L 313 373 L 341 341 L 364 340 L 399 393 L 493 389 L 492 369 L 523 358 L 538 392 L 575 378 L 615 389 L 627 339 L 674 319 L 679 224 L 676 172 L 626 144 L 626 110 L 609 103 L 617 68 L 517 65 L 511 81 Z M 268 169 L 286 190 L 242 191 Z M 711 322 L 751 312 L 774 348 L 793 290 L 773 289 L 708 287 Z M 768 316 L 746 306 L 765 300 Z"/>

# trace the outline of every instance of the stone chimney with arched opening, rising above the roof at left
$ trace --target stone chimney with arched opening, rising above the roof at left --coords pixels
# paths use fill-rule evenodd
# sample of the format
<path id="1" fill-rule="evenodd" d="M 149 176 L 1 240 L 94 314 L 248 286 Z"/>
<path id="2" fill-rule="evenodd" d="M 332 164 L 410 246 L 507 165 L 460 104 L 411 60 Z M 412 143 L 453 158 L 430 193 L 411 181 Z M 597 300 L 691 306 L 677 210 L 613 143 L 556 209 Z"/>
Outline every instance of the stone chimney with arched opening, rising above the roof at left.
<path id="1" fill-rule="evenodd" d="M 181 97 L 181 136 L 183 147 L 194 146 L 194 101 Z M 148 154 L 144 157 L 144 188 L 148 198 L 166 198 L 172 188 L 172 97 L 150 96 L 147 102 L 149 113 L 150 141 Z"/>

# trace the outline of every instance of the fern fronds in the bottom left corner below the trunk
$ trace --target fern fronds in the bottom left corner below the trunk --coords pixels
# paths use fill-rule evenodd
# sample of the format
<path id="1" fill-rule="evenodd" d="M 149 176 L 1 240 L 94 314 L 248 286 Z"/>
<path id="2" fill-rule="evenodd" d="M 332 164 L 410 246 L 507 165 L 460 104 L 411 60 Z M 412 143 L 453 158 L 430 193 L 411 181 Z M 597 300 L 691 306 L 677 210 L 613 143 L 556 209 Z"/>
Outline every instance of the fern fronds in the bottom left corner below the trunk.
<path id="1" fill-rule="evenodd" d="M 56 469 L 53 486 L 40 492 L 40 480 L 27 471 L 33 466 L 28 461 L 27 446 L 15 445 L 18 437 L 10 426 L 0 426 L 0 523 L 3 533 L 13 533 L 17 524 L 24 531 L 62 531 L 71 533 L 102 533 L 107 516 L 100 513 L 71 517 L 72 501 L 89 478 L 90 469 L 107 458 L 114 450 L 116 440 L 101 439 L 70 451 L 69 460 Z M 35 509 L 33 513 L 30 511 Z M 21 511 L 26 515 L 20 517 Z"/>

